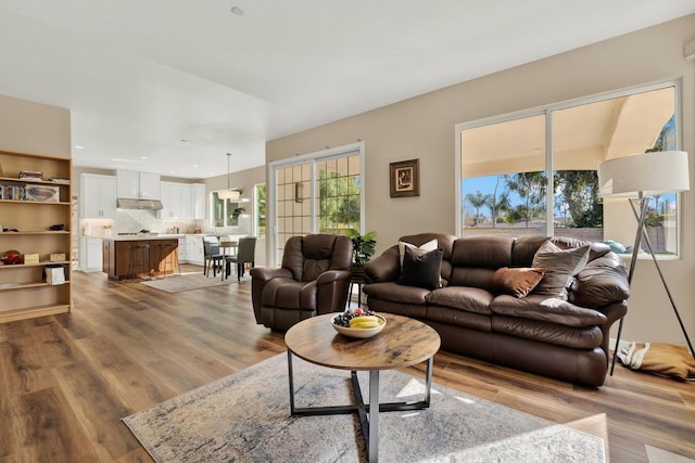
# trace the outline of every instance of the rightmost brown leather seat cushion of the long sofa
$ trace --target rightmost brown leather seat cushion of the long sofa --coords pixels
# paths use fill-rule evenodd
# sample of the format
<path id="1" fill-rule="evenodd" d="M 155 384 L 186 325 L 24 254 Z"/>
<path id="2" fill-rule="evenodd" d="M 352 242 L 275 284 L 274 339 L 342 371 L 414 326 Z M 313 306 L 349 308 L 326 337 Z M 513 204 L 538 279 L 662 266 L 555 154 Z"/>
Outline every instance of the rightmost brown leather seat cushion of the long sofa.
<path id="1" fill-rule="evenodd" d="M 501 316 L 540 320 L 565 326 L 592 326 L 606 322 L 606 316 L 597 310 L 535 294 L 522 299 L 501 295 L 490 303 L 490 309 Z"/>

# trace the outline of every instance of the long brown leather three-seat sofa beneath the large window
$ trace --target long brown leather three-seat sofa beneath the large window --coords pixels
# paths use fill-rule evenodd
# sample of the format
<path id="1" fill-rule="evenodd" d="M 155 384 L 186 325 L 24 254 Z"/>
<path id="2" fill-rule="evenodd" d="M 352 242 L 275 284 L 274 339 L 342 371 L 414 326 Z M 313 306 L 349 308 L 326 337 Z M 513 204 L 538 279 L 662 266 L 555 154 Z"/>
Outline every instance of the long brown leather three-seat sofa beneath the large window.
<path id="1" fill-rule="evenodd" d="M 608 246 L 549 239 L 560 249 L 590 245 L 586 263 L 569 278 L 567 297 L 535 290 L 515 297 L 490 287 L 491 276 L 503 267 L 531 267 L 548 239 L 422 233 L 400 241 L 420 246 L 433 239 L 443 250 L 442 287 L 396 283 L 401 262 L 394 245 L 365 268 L 369 309 L 421 320 L 440 334 L 442 348 L 454 353 L 572 383 L 604 383 L 609 330 L 626 314 L 629 297 L 624 263 Z"/>

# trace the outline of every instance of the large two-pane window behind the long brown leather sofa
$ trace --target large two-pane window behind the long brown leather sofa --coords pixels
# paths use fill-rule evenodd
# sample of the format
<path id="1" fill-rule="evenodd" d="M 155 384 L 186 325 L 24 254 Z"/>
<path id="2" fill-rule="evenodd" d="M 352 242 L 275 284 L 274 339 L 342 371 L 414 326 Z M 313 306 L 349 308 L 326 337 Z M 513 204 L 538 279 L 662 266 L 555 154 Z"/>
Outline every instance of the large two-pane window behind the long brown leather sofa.
<path id="1" fill-rule="evenodd" d="M 598 196 L 596 168 L 610 158 L 678 150 L 677 94 L 669 82 L 458 126 L 462 234 L 630 246 L 636 220 L 627 201 Z M 679 252 L 678 210 L 675 193 L 652 207 L 648 233 L 661 254 Z"/>

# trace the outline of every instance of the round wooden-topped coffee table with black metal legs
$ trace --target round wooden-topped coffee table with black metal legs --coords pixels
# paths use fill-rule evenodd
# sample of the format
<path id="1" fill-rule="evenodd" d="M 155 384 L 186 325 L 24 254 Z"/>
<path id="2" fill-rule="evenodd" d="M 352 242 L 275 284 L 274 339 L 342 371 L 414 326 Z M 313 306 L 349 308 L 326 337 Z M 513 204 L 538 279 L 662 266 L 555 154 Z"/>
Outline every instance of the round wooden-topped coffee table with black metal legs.
<path id="1" fill-rule="evenodd" d="M 379 412 L 419 410 L 430 406 L 432 364 L 439 350 L 439 334 L 427 324 L 406 317 L 382 313 L 387 325 L 374 337 L 354 339 L 330 325 L 336 313 L 314 317 L 290 327 L 285 335 L 290 383 L 290 413 L 295 416 L 357 413 L 370 462 L 379 456 Z M 350 370 L 355 404 L 294 407 L 292 356 L 321 366 Z M 379 403 L 379 371 L 410 366 L 427 361 L 424 400 Z M 369 372 L 369 403 L 364 403 L 357 371 Z"/>

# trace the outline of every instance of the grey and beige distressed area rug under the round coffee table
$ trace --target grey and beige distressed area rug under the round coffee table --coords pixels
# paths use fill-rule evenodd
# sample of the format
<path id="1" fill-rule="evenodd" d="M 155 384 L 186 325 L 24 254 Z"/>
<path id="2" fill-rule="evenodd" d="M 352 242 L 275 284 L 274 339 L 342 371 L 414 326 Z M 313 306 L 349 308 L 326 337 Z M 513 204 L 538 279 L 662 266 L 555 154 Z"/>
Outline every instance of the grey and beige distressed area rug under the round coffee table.
<path id="1" fill-rule="evenodd" d="M 350 372 L 293 360 L 295 406 L 354 403 Z M 368 375 L 359 373 L 365 400 Z M 424 380 L 380 373 L 380 400 L 420 400 Z M 157 462 L 362 462 L 355 415 L 289 415 L 275 356 L 123 421 Z M 603 439 L 433 384 L 427 410 L 379 415 L 382 462 L 603 462 Z"/>

